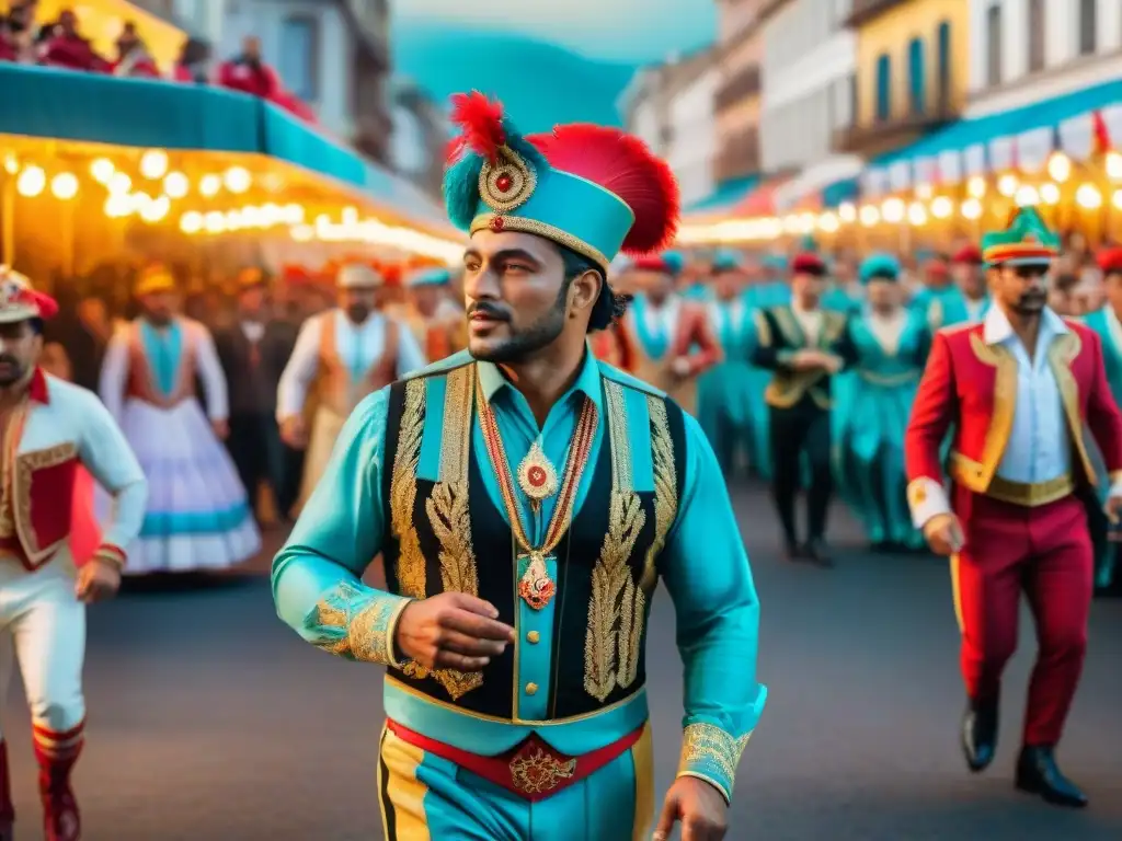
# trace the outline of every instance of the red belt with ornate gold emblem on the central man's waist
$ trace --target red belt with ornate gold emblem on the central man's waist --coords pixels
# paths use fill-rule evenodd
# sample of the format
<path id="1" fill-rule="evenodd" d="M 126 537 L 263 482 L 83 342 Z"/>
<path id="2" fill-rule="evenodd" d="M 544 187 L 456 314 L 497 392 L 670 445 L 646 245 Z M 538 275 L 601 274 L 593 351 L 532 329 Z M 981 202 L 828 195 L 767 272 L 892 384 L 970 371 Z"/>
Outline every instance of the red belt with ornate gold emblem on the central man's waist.
<path id="1" fill-rule="evenodd" d="M 646 724 L 622 736 L 610 745 L 578 757 L 558 752 L 536 733 L 505 754 L 481 756 L 430 739 L 398 724 L 393 719 L 386 721 L 386 727 L 402 741 L 534 802 L 590 777 L 608 763 L 626 754 L 643 736 L 643 728 Z"/>

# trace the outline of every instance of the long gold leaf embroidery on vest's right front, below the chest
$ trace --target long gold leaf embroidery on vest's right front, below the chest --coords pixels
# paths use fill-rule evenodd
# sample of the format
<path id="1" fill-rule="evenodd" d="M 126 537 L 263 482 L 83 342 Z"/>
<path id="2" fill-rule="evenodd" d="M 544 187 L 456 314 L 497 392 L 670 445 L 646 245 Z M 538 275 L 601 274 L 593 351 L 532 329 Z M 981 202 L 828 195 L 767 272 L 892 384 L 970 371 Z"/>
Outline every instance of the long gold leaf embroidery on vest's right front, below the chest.
<path id="1" fill-rule="evenodd" d="M 592 570 L 592 595 L 585 636 L 585 690 L 597 701 L 603 702 L 611 693 L 624 676 L 625 657 L 631 658 L 625 640 L 634 628 L 635 584 L 627 561 L 645 523 L 646 514 L 637 493 L 611 492 L 608 534 L 600 560 Z M 628 586 L 631 598 L 627 597 Z M 620 683 L 620 686 L 626 685 Z"/>

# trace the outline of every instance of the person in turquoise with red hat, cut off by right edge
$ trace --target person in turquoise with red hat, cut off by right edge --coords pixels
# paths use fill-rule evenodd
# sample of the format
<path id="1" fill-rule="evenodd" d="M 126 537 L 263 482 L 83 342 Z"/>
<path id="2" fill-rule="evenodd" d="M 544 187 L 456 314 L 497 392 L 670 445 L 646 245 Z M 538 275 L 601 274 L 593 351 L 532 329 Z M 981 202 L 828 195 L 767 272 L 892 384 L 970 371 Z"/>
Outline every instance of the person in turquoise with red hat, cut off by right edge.
<path id="1" fill-rule="evenodd" d="M 1106 292 L 1106 303 L 1093 313 L 1088 313 L 1083 322 L 1098 333 L 1103 340 L 1103 363 L 1106 368 L 1106 380 L 1111 383 L 1114 401 L 1122 406 L 1122 248 L 1106 249 L 1098 255 L 1098 267 L 1103 271 L 1103 288 Z M 1096 455 L 1098 477 L 1098 502 L 1106 501 L 1110 481 L 1102 459 Z M 1100 595 L 1122 597 L 1122 574 L 1119 573 L 1119 554 L 1122 548 L 1118 543 L 1110 542 L 1109 523 L 1101 510 L 1088 511 L 1088 517 L 1095 537 L 1095 591 Z"/>

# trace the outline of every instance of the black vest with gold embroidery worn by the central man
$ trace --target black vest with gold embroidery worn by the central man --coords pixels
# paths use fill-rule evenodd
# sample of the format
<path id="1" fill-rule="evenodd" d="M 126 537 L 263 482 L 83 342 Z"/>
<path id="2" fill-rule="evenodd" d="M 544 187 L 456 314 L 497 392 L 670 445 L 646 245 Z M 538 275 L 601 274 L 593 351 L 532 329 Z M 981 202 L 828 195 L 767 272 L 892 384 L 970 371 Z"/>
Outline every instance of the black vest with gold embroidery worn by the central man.
<path id="1" fill-rule="evenodd" d="M 442 389 L 429 389 L 444 378 Z M 486 599 L 499 620 L 517 627 L 515 543 L 482 481 L 486 452 L 475 452 L 476 367 L 422 372 L 390 388 L 386 428 L 387 540 L 383 551 L 392 592 L 427 598 L 447 591 Z M 659 555 L 678 516 L 684 481 L 681 409 L 647 387 L 601 377 L 607 423 L 588 492 L 555 547 L 554 675 L 549 718 L 582 715 L 623 701 L 645 682 L 644 650 Z M 443 406 L 427 395 L 443 394 Z M 631 395 L 628 396 L 628 392 Z M 636 399 L 636 397 L 638 399 Z M 644 409 L 654 487 L 635 491 L 634 413 Z M 441 423 L 426 424 L 430 413 Z M 426 427 L 441 436 L 439 480 L 417 474 Z M 645 461 L 645 460 L 644 460 Z M 480 673 L 429 672 L 416 664 L 389 673 L 414 690 L 465 711 L 512 719 L 516 646 Z"/>

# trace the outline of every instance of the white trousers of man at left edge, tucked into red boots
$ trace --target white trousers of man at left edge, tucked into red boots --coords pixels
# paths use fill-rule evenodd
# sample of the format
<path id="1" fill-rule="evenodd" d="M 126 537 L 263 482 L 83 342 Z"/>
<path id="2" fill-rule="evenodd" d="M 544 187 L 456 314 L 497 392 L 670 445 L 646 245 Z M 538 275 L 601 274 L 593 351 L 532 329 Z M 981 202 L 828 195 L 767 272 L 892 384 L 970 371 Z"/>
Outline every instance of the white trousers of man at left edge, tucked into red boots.
<path id="1" fill-rule="evenodd" d="M 85 718 L 85 606 L 74 594 L 73 571 L 65 549 L 35 572 L 0 558 L 0 701 L 15 660 L 31 721 L 57 733 Z"/>

